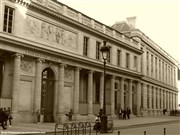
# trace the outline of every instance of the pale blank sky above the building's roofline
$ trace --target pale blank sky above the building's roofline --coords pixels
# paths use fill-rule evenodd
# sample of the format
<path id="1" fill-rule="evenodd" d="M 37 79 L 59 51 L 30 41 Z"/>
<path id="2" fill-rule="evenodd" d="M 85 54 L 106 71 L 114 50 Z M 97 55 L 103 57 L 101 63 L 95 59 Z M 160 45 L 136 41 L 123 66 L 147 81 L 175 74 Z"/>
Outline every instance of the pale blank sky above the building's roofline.
<path id="1" fill-rule="evenodd" d="M 107 26 L 136 16 L 136 28 L 180 62 L 180 0 L 58 1 Z"/>

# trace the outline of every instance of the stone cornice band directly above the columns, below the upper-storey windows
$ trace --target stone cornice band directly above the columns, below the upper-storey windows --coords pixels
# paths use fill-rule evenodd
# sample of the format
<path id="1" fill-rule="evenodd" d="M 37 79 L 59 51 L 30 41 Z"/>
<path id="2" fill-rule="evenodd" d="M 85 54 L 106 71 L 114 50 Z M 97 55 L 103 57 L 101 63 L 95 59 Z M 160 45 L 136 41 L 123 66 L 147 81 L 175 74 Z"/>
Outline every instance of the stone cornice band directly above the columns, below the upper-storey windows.
<path id="1" fill-rule="evenodd" d="M 5 35 L 3 33 L 0 34 L 0 38 L 1 43 L 3 44 L 3 42 L 8 43 L 9 46 L 13 46 L 16 48 L 16 50 L 18 50 L 18 47 L 21 48 L 22 50 L 28 50 L 29 53 L 22 53 L 22 51 L 20 51 L 19 53 L 22 53 L 24 55 L 29 55 L 35 58 L 41 58 L 47 61 L 52 61 L 52 62 L 57 62 L 57 63 L 64 63 L 67 65 L 71 65 L 71 66 L 75 66 L 75 67 L 80 67 L 80 68 L 84 68 L 84 69 L 94 69 L 94 70 L 99 70 L 102 71 L 103 70 L 103 62 L 102 61 L 97 61 L 91 58 L 86 58 L 83 57 L 81 55 L 77 55 L 77 54 L 73 54 L 73 53 L 69 53 L 69 52 L 65 52 L 64 50 L 59 50 L 57 51 L 57 49 L 49 49 L 49 48 L 43 48 L 40 47 L 39 44 L 32 42 L 32 41 L 28 41 L 25 39 L 20 39 L 19 37 L 12 37 L 10 35 Z M 3 49 L 0 48 L 0 49 Z M 32 52 L 31 50 L 36 50 L 37 53 Z M 51 51 L 50 51 L 51 50 Z M 10 51 L 10 50 L 7 50 Z M 12 51 L 12 50 L 11 50 Z M 40 52 L 40 54 L 38 53 Z M 44 53 L 49 54 L 48 56 L 52 55 L 54 57 L 51 58 L 47 58 L 45 55 L 43 55 Z M 59 58 L 59 59 L 58 59 Z M 63 58 L 63 59 L 62 59 Z M 73 61 L 73 62 L 70 62 Z M 120 68 L 117 67 L 116 65 L 112 65 L 112 64 L 107 64 L 107 73 L 112 73 L 114 75 L 129 75 L 130 77 L 134 77 L 134 78 L 141 78 L 141 74 L 135 71 L 131 71 L 125 68 Z"/>

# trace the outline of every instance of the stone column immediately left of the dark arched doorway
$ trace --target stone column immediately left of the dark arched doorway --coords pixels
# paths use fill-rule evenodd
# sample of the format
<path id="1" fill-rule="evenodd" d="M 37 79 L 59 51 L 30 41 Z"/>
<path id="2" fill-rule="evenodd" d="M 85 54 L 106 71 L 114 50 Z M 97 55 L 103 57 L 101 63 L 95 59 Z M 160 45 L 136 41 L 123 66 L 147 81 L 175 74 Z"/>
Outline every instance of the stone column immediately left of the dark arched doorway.
<path id="1" fill-rule="evenodd" d="M 36 60 L 36 78 L 35 78 L 35 95 L 34 95 L 34 111 L 36 112 L 37 110 L 40 109 L 41 107 L 41 82 L 42 82 L 42 62 L 44 60 L 42 59 L 37 59 Z"/>

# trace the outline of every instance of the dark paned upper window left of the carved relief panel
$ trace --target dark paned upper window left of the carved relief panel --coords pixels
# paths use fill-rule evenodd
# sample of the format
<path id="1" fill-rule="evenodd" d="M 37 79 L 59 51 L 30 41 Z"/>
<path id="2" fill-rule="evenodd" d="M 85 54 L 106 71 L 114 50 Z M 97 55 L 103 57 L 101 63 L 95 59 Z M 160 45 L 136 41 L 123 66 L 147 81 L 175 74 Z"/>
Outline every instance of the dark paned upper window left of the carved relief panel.
<path id="1" fill-rule="evenodd" d="M 7 33 L 12 33 L 14 9 L 8 6 L 5 6 L 4 9 L 4 22 L 3 22 L 3 31 Z"/>

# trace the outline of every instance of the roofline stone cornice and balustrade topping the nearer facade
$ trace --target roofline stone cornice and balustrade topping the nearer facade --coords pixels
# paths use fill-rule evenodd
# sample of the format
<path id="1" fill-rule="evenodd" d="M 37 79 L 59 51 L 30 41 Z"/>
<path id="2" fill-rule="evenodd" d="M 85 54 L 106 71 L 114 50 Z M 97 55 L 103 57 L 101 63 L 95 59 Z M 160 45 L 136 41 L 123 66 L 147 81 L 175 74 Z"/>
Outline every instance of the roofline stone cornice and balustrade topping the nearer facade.
<path id="1" fill-rule="evenodd" d="M 75 25 L 76 27 L 78 26 L 80 29 L 84 29 L 87 32 L 91 32 L 94 35 L 100 36 L 104 40 L 119 44 L 119 45 L 123 46 L 124 48 L 132 50 L 138 54 L 143 53 L 139 49 L 138 43 L 136 40 L 131 39 L 125 35 L 121 35 L 121 34 L 119 34 L 119 32 L 113 30 L 112 28 L 108 28 L 108 26 L 105 26 L 104 24 L 101 24 L 97 21 L 95 22 L 94 20 L 90 20 L 92 24 L 86 25 L 80 19 L 72 19 L 70 16 L 67 15 L 67 13 L 64 13 L 66 10 L 68 10 L 68 9 L 66 9 L 67 6 L 63 5 L 63 4 L 60 5 L 61 4 L 60 2 L 53 1 L 53 3 L 58 4 L 58 6 L 55 7 L 55 5 L 52 5 L 52 1 L 48 1 L 48 2 L 45 2 L 44 0 L 14 0 L 14 1 L 16 3 L 27 6 L 29 9 L 37 10 L 39 12 L 48 14 L 51 17 L 54 17 L 54 19 L 60 19 L 60 20 L 65 21 L 66 23 L 68 22 L 70 25 Z M 61 8 L 60 8 L 60 6 L 61 6 Z M 53 8 L 54 8 L 54 10 L 53 10 Z M 71 9 L 69 8 L 68 11 L 70 12 L 70 10 Z M 57 12 L 57 11 L 59 11 L 59 12 Z M 81 14 L 81 13 L 78 13 L 78 15 L 79 14 Z M 85 17 L 87 17 L 87 16 L 85 16 Z M 87 17 L 86 19 L 90 19 L 90 18 Z M 102 31 L 98 30 L 98 28 L 95 27 L 96 26 L 95 24 L 97 26 L 102 25 Z M 94 26 L 92 26 L 92 25 L 94 25 Z"/>

